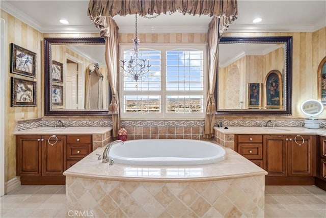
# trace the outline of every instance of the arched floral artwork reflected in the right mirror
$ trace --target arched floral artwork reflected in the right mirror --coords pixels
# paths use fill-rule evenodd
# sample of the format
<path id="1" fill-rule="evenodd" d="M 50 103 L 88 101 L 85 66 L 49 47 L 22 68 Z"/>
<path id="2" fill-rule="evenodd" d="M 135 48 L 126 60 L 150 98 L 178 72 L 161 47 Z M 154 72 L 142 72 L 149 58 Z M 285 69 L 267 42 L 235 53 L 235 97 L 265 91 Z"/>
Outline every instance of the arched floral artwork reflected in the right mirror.
<path id="1" fill-rule="evenodd" d="M 283 109 L 282 74 L 271 70 L 265 77 L 265 108 Z"/>

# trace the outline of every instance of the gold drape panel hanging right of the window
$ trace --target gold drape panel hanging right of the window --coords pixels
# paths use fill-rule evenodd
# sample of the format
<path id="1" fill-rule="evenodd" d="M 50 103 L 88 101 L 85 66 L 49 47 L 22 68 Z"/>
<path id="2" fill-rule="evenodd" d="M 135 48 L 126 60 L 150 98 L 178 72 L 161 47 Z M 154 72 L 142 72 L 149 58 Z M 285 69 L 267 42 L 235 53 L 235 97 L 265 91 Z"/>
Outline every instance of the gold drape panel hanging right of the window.
<path id="1" fill-rule="evenodd" d="M 208 93 L 206 101 L 205 129 L 204 136 L 210 138 L 214 134 L 215 123 L 215 99 L 214 89 L 216 81 L 216 71 L 218 68 L 218 48 L 219 48 L 219 18 L 213 17 L 209 23 L 207 32 L 208 42 Z"/>

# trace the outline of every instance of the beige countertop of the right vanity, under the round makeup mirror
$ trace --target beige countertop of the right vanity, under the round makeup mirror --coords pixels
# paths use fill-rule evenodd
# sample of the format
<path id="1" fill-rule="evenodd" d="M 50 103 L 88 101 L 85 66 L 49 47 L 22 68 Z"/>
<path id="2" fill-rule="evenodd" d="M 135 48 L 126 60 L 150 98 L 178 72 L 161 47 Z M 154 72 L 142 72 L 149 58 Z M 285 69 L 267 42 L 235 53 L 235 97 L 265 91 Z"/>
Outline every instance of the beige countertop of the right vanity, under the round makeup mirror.
<path id="1" fill-rule="evenodd" d="M 326 136 L 326 129 L 308 129 L 305 127 L 214 127 L 223 134 L 282 134 L 282 135 L 320 135 Z"/>

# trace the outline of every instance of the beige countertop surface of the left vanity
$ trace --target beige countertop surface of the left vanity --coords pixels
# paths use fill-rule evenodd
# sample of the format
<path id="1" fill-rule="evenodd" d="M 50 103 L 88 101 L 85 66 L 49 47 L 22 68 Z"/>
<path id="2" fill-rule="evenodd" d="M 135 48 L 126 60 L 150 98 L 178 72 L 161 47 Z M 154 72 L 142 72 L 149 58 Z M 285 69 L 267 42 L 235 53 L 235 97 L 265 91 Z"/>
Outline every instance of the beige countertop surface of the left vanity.
<path id="1" fill-rule="evenodd" d="M 37 127 L 28 130 L 15 131 L 14 135 L 93 135 L 104 134 L 112 127 Z"/>

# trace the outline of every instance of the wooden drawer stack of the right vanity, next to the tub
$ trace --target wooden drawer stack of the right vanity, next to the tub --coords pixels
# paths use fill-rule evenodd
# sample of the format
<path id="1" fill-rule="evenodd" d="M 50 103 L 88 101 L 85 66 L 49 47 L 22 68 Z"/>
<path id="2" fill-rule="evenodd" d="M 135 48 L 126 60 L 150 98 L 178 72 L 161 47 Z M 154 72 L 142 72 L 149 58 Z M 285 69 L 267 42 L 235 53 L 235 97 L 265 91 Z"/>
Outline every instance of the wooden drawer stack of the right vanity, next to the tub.
<path id="1" fill-rule="evenodd" d="M 264 168 L 262 139 L 262 135 L 237 135 L 235 144 L 239 154 Z"/>

